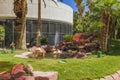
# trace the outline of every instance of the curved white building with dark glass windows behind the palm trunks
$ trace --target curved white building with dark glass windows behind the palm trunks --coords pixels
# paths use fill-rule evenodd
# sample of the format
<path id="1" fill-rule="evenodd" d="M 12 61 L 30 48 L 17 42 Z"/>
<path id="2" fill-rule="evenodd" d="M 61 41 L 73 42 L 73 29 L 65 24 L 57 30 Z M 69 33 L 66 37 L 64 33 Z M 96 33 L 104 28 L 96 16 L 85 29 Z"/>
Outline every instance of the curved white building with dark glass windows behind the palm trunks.
<path id="1" fill-rule="evenodd" d="M 14 0 L 0 0 L 0 25 L 5 26 L 6 45 L 16 39 L 14 29 L 15 14 L 13 12 Z M 31 42 L 36 38 L 37 18 L 38 18 L 38 0 L 27 0 L 28 13 L 26 23 L 27 42 Z M 43 1 L 43 0 L 41 0 Z M 42 2 L 42 23 L 41 32 L 43 36 L 48 38 L 49 44 L 55 43 L 55 35 L 59 35 L 59 41 L 63 40 L 63 35 L 72 33 L 73 25 L 73 10 L 68 5 L 57 2 L 57 5 L 52 0 L 45 0 L 46 7 Z"/>

